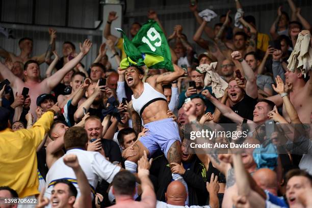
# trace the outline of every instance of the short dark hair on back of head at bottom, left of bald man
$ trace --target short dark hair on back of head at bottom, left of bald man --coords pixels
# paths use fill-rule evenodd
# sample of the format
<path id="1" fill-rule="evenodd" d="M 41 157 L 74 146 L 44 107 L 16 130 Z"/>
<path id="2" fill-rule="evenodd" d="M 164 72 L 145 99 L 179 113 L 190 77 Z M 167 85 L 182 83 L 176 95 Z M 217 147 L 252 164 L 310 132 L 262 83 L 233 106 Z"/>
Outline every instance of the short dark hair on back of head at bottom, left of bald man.
<path id="1" fill-rule="evenodd" d="M 112 185 L 115 195 L 132 195 L 136 188 L 136 177 L 131 172 L 120 171 L 115 175 Z"/>

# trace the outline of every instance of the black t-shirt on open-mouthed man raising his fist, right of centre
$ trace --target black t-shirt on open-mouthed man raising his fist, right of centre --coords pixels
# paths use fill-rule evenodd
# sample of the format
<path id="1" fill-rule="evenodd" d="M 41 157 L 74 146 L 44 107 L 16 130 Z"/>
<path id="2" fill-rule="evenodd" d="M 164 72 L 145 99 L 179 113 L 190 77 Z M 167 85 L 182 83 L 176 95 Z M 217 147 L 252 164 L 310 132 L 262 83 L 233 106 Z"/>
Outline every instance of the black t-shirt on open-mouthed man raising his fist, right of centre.
<path id="1" fill-rule="evenodd" d="M 251 98 L 245 94 L 244 98 L 233 105 L 231 109 L 241 117 L 253 120 L 253 110 L 256 104 L 257 98 Z M 233 123 L 233 121 L 223 116 L 219 123 Z"/>

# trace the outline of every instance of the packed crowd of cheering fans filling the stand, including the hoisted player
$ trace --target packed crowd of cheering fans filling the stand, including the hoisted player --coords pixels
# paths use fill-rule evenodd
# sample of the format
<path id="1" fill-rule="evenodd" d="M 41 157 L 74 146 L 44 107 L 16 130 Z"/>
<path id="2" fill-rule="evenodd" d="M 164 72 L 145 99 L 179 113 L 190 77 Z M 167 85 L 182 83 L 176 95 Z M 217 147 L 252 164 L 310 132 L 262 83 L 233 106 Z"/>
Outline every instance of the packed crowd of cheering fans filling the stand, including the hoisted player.
<path id="1" fill-rule="evenodd" d="M 108 50 L 117 65 L 126 58 L 123 38 L 111 34 L 114 11 L 91 66 L 81 63 L 91 41 L 79 49 L 65 41 L 59 56 L 54 29 L 42 55 L 32 57 L 36 40 L 28 37 L 18 42 L 20 55 L 0 47 L 0 207 L 312 207 L 312 28 L 288 3 L 291 17 L 279 7 L 270 34 L 257 31 L 239 0 L 235 18 L 219 14 L 215 25 L 214 12 L 199 12 L 191 1 L 193 37 L 183 24 L 164 31 L 148 11 L 167 34 L 173 72 L 112 69 Z M 128 29 L 131 38 L 141 23 Z M 206 52 L 196 54 L 191 38 Z M 145 105 L 145 97 L 154 102 Z M 266 135 L 270 121 L 280 130 Z M 246 141 L 261 144 L 261 153 L 198 151 L 189 128 L 201 131 L 203 124 L 255 126 Z M 9 203 L 13 197 L 28 203 Z"/>

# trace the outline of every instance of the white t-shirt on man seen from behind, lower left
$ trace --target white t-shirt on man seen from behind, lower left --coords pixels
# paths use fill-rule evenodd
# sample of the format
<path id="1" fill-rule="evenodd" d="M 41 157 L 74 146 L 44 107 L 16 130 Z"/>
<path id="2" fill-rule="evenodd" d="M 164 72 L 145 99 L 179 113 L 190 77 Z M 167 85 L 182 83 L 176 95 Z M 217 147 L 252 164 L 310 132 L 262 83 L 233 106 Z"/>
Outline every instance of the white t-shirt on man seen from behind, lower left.
<path id="1" fill-rule="evenodd" d="M 120 171 L 120 167 L 113 165 L 106 160 L 103 155 L 97 151 L 86 151 L 82 149 L 70 149 L 66 154 L 77 155 L 79 164 L 83 169 L 89 184 L 96 189 L 98 181 L 104 179 L 108 183 L 112 183 L 114 176 Z M 63 158 L 58 159 L 49 169 L 46 175 L 46 190 L 44 196 L 50 198 L 53 186 L 49 186 L 51 182 L 61 178 L 76 179 L 75 173 L 72 168 L 65 165 Z M 73 185 L 77 189 L 77 198 L 80 196 L 80 190 L 76 183 Z"/>

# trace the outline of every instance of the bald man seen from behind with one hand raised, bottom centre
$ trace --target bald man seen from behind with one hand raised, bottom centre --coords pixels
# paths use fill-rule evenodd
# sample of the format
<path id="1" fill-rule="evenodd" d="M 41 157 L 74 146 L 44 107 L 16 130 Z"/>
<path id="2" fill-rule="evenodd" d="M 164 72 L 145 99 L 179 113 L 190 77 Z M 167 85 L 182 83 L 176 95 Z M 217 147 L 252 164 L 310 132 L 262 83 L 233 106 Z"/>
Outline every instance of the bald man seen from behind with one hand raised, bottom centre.
<path id="1" fill-rule="evenodd" d="M 169 208 L 169 207 L 172 207 L 172 208 L 174 207 L 185 207 L 185 208 L 216 207 L 217 208 L 219 207 L 219 200 L 217 197 L 217 193 L 219 191 L 218 176 L 214 177 L 214 174 L 212 174 L 210 181 L 211 183 L 207 182 L 207 186 L 206 186 L 207 191 L 209 192 L 209 195 L 210 195 L 209 205 L 205 205 L 205 206 L 185 205 L 185 201 L 187 198 L 186 188 L 179 180 L 174 180 L 168 185 L 167 192 L 165 193 L 167 203 L 163 201 L 157 201 L 156 207 L 157 208 Z"/>

